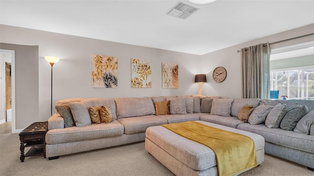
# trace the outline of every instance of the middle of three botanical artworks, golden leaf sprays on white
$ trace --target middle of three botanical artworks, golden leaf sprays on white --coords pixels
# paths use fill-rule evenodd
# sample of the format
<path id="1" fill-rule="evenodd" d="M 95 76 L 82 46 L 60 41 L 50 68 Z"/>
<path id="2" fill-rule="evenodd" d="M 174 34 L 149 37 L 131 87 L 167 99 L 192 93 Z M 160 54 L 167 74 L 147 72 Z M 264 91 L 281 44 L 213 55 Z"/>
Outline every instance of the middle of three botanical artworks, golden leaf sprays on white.
<path id="1" fill-rule="evenodd" d="M 131 88 L 152 88 L 152 61 L 131 59 Z"/>

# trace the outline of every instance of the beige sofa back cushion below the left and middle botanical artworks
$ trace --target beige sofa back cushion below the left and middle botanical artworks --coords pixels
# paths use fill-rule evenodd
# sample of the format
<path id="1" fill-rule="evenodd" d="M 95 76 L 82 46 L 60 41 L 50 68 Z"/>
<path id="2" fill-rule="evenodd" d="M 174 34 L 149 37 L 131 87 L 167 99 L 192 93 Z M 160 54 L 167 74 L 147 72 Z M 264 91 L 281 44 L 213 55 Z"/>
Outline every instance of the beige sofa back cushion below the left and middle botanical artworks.
<path id="1" fill-rule="evenodd" d="M 153 100 L 147 98 L 116 98 L 117 119 L 156 114 Z M 110 107 L 111 109 L 111 107 Z"/>

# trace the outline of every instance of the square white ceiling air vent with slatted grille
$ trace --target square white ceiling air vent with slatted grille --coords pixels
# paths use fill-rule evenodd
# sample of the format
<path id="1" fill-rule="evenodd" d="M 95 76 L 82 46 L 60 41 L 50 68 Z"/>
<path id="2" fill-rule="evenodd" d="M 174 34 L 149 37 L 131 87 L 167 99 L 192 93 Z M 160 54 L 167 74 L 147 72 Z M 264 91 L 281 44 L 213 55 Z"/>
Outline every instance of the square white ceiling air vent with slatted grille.
<path id="1" fill-rule="evenodd" d="M 187 17 L 198 10 L 199 8 L 179 1 L 175 6 L 168 10 L 166 14 L 185 20 Z"/>

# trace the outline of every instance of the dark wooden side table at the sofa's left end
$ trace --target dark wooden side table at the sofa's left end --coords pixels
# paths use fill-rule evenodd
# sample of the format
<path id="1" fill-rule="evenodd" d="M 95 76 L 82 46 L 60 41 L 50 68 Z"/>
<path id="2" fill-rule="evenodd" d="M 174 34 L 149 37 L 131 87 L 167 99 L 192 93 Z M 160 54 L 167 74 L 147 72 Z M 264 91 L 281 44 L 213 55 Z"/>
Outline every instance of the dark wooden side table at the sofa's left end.
<path id="1" fill-rule="evenodd" d="M 21 162 L 24 162 L 25 157 L 34 155 L 44 155 L 46 158 L 46 142 L 45 136 L 48 132 L 48 121 L 47 122 L 34 122 L 22 132 L 20 132 L 21 141 Z M 26 145 L 24 145 L 26 144 Z M 29 151 L 24 155 L 24 149 L 31 147 Z"/>

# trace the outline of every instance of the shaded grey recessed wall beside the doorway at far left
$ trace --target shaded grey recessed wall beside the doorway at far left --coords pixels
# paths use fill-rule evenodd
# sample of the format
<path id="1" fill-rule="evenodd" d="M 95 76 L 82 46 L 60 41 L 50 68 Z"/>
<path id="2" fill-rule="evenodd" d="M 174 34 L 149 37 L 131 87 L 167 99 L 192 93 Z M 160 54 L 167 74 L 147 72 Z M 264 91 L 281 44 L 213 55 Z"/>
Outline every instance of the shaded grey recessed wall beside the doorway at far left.
<path id="1" fill-rule="evenodd" d="M 15 50 L 15 124 L 24 129 L 39 121 L 38 46 L 0 43 L 0 48 Z"/>

